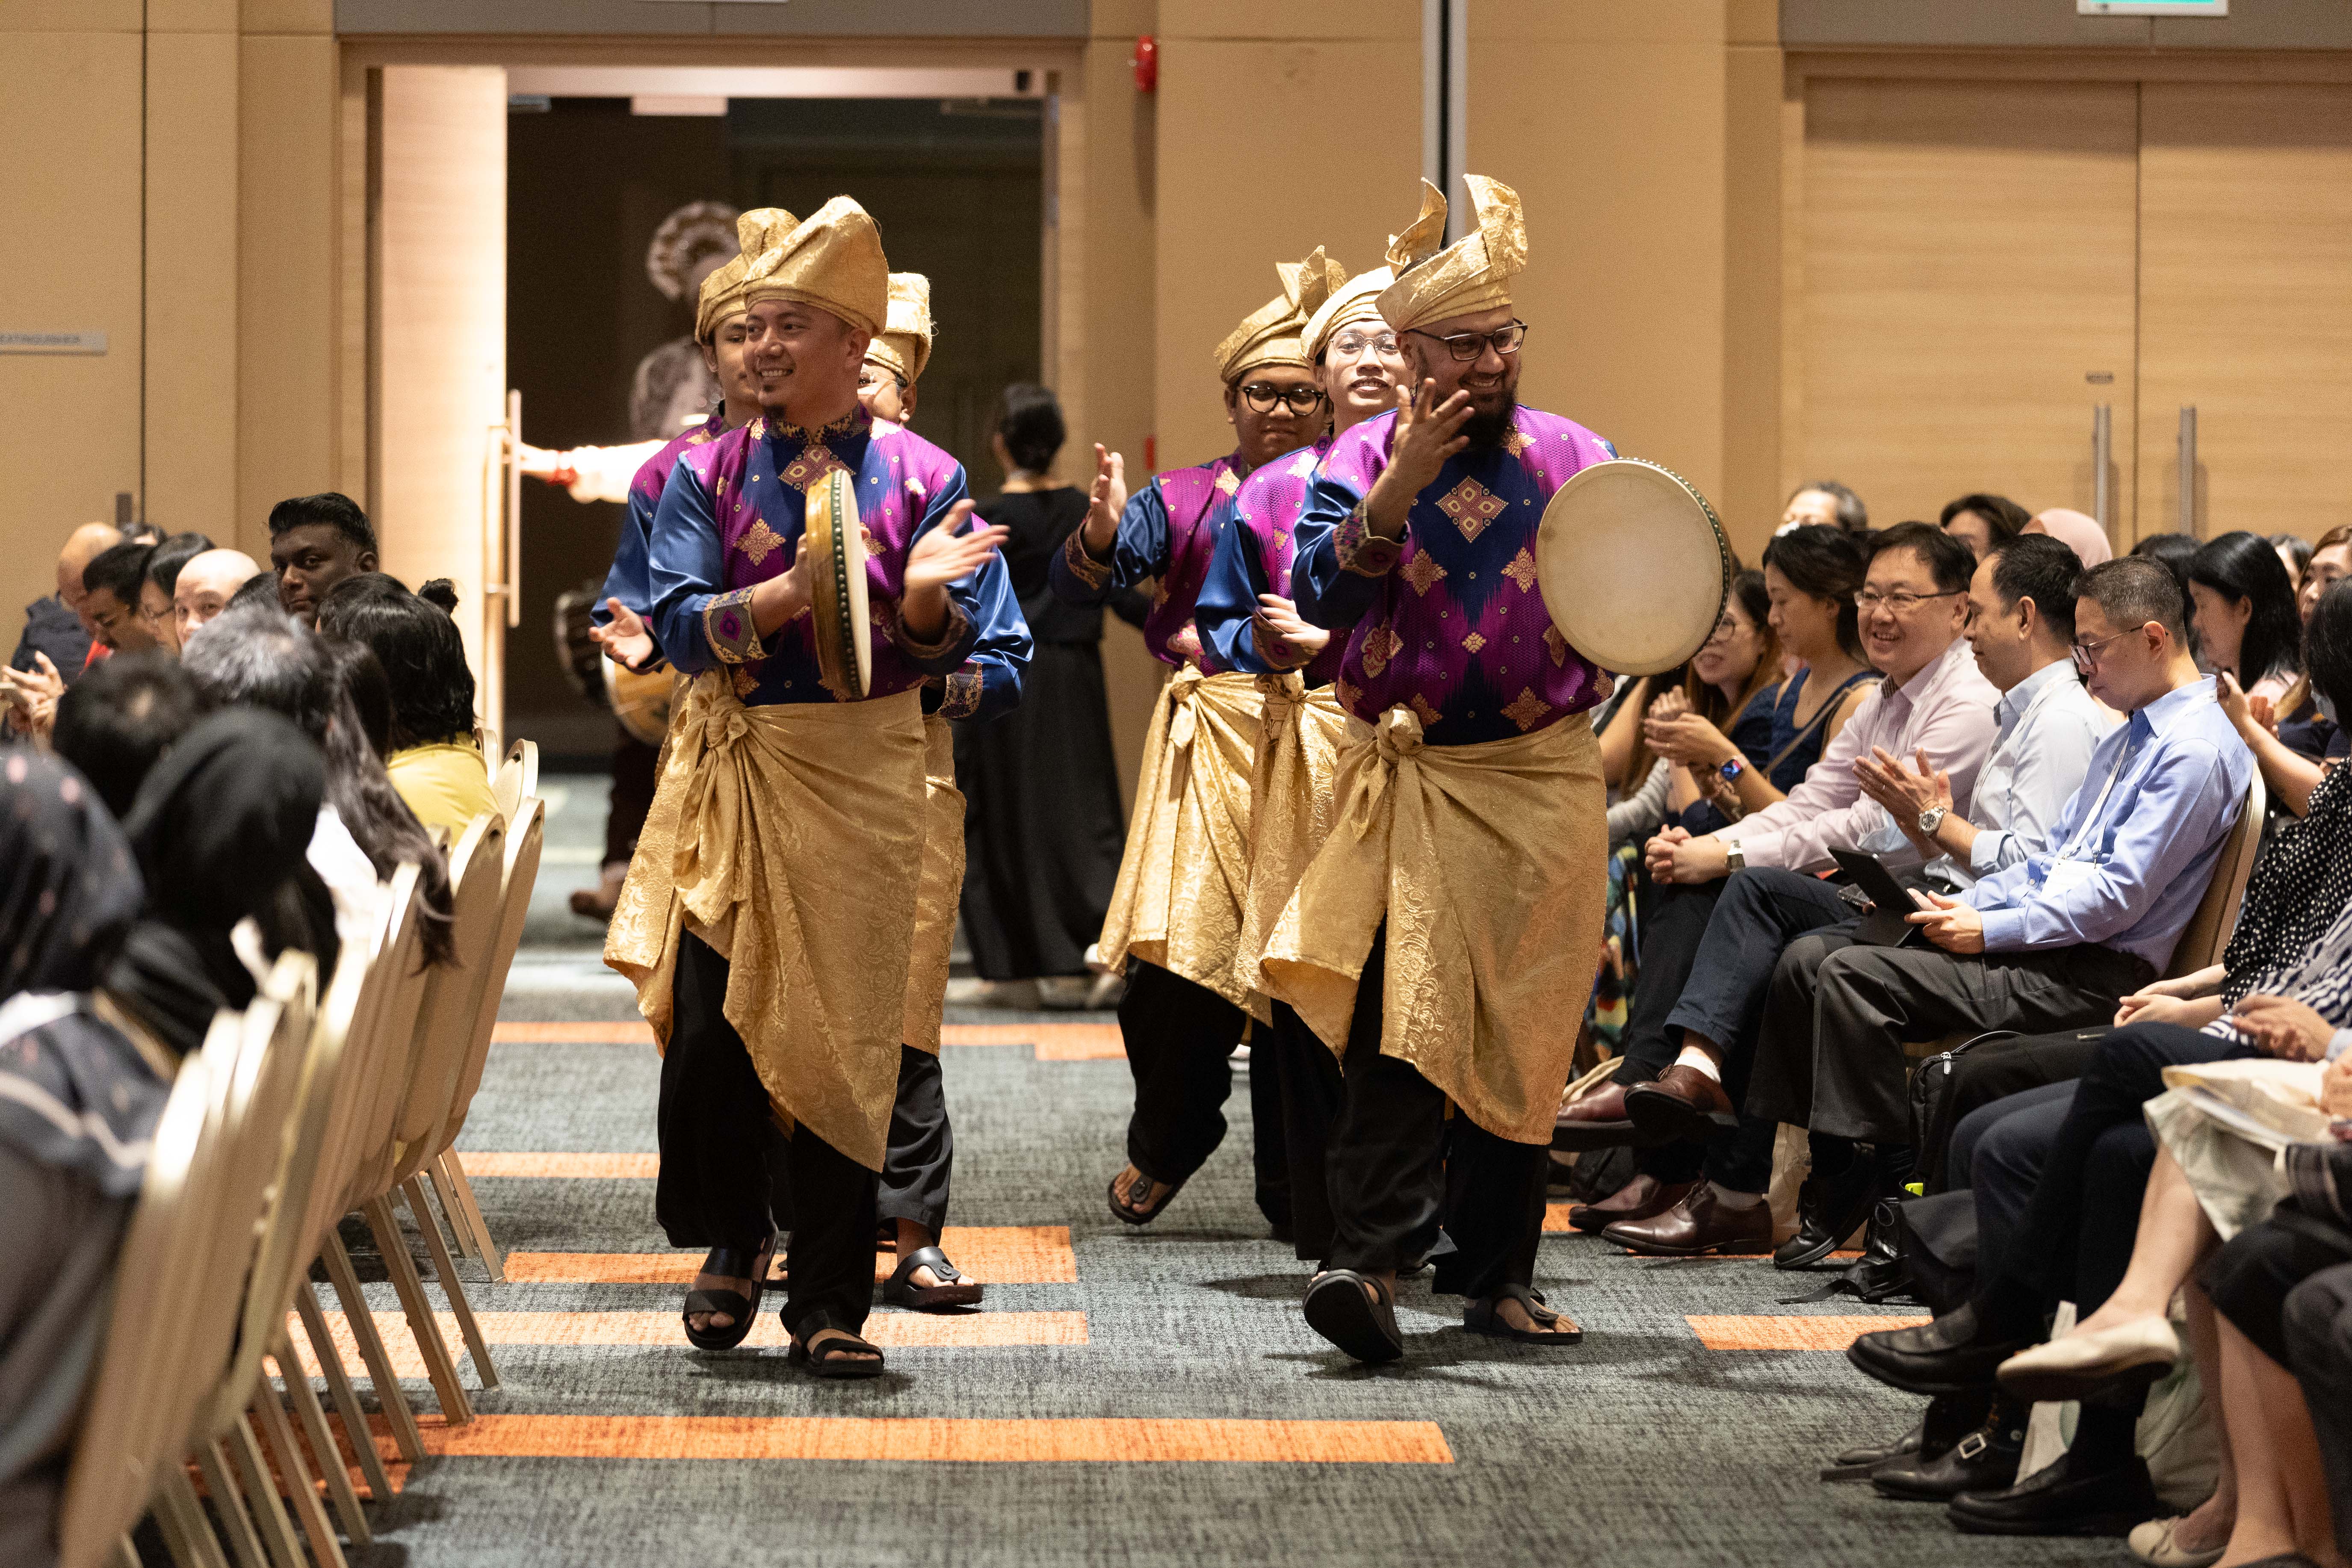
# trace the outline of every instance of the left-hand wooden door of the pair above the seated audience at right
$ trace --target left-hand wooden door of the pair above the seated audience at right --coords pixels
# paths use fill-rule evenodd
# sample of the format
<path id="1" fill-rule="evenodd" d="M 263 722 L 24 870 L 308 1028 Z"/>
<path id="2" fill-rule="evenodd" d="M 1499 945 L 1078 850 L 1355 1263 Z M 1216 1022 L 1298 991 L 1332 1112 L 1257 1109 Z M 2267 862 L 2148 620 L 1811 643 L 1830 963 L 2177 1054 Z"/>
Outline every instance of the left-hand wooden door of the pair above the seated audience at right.
<path id="1" fill-rule="evenodd" d="M 1842 480 L 1877 527 L 1978 489 L 2089 512 L 2093 404 L 2110 404 L 2110 527 L 2131 517 L 2136 99 L 2131 82 L 1809 85 L 1788 482 Z"/>

